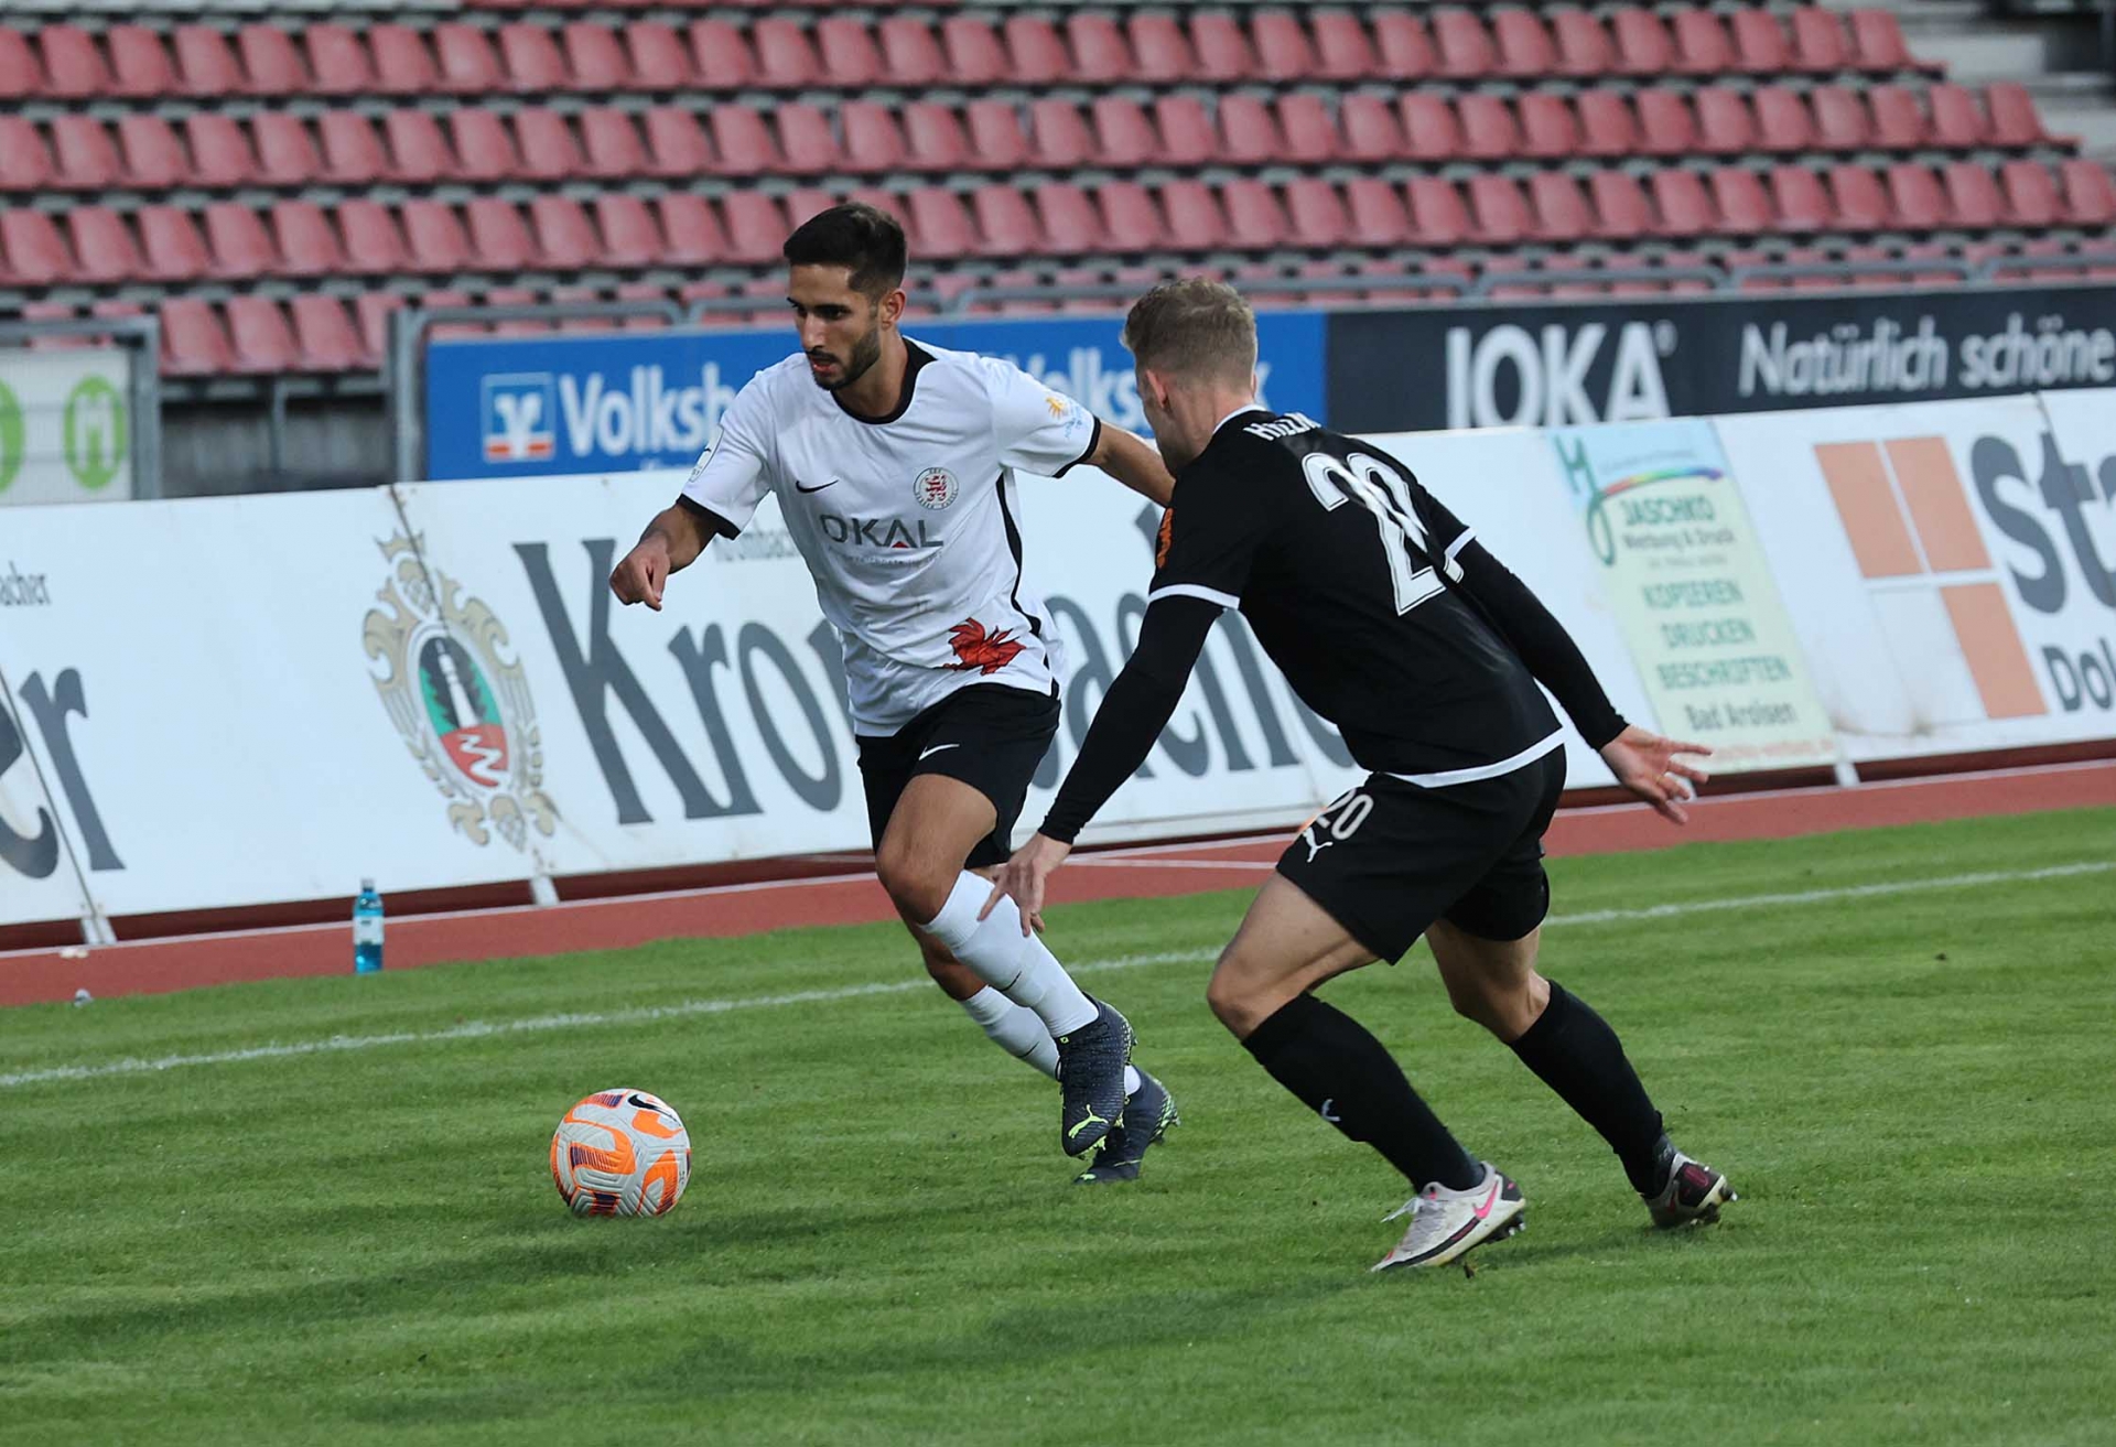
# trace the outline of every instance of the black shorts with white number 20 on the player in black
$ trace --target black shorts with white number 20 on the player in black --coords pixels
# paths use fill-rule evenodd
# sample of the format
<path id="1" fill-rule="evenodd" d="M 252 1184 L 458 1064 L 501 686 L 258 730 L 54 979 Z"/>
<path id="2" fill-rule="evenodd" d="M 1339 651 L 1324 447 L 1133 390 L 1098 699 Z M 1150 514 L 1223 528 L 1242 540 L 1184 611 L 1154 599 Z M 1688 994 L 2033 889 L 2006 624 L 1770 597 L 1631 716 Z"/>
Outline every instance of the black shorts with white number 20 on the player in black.
<path id="1" fill-rule="evenodd" d="M 1519 939 L 1551 908 L 1543 831 L 1564 787 L 1564 749 L 1511 774 L 1433 789 L 1369 774 L 1293 838 L 1278 872 L 1388 963 L 1433 920 Z"/>

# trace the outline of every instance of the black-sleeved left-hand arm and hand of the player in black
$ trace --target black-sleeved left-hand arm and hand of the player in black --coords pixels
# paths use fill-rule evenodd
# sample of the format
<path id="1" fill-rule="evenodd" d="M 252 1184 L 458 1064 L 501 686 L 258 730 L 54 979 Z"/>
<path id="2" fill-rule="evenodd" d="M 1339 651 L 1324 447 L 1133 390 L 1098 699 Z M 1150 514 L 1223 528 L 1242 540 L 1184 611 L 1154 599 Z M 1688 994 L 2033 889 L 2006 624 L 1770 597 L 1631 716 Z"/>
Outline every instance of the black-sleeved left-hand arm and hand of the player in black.
<path id="1" fill-rule="evenodd" d="M 1204 639 L 1219 620 L 1219 605 L 1204 599 L 1170 597 L 1147 607 L 1138 624 L 1138 647 L 1124 671 L 1102 694 L 1094 711 L 1079 757 L 1058 785 L 1043 829 L 1014 850 L 1014 859 L 992 882 L 992 897 L 978 918 L 986 918 L 1003 897 L 1011 895 L 1022 912 L 1022 933 L 1043 929 L 1043 889 L 1052 872 L 1073 853 L 1073 840 L 1109 802 L 1126 779 L 1138 772 L 1153 751 L 1153 740 L 1168 728 L 1183 685 L 1189 683 Z"/>

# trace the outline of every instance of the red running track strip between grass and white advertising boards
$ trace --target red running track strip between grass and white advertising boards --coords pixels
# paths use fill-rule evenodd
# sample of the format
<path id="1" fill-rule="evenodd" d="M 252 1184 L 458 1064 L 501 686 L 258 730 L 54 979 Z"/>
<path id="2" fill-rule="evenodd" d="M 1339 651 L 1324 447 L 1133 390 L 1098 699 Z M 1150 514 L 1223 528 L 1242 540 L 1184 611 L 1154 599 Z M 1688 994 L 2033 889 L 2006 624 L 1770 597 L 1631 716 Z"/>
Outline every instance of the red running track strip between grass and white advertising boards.
<path id="1" fill-rule="evenodd" d="M 1551 825 L 1547 846 L 1553 855 L 1612 855 L 1705 840 L 1777 840 L 2093 804 L 2116 806 L 2116 762 L 1902 779 L 1854 789 L 1731 793 L 1693 804 L 1686 829 L 1676 829 L 1644 804 L 1568 808 Z M 1052 897 L 1066 903 L 1234 889 L 1261 880 L 1284 844 L 1287 836 L 1270 836 L 1077 855 L 1054 878 Z M 546 908 L 417 914 L 389 922 L 389 969 L 889 918 L 895 912 L 872 872 Z M 95 950 L 0 952 L 0 1005 L 70 1001 L 76 988 L 108 996 L 284 975 L 336 975 L 349 969 L 347 956 L 343 922 L 142 939 Z"/>

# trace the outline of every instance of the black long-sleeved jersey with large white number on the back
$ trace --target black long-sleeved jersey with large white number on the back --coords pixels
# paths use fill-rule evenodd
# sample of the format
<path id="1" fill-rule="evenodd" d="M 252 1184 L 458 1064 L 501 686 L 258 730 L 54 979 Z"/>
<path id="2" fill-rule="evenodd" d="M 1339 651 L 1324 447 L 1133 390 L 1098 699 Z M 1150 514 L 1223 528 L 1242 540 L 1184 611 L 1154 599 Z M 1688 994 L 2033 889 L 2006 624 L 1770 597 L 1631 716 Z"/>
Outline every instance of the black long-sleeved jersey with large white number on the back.
<path id="1" fill-rule="evenodd" d="M 1443 787 L 1623 719 L 1564 626 L 1411 470 L 1299 413 L 1236 413 L 1176 476 L 1138 647 L 1094 715 L 1043 834 L 1071 842 L 1145 762 L 1221 609 L 1238 607 L 1367 770 Z"/>

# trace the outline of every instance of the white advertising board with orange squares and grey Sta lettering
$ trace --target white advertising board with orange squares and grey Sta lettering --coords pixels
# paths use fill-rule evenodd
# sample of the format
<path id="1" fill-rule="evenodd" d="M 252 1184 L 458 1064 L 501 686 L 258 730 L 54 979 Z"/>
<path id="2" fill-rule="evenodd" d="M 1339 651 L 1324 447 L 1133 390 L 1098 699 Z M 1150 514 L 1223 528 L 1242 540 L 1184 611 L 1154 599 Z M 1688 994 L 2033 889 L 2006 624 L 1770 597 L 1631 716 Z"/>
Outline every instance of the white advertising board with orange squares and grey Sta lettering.
<path id="1" fill-rule="evenodd" d="M 2027 396 L 1716 427 L 1854 762 L 2116 734 L 2105 425 L 2074 455 Z"/>

